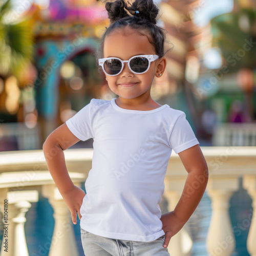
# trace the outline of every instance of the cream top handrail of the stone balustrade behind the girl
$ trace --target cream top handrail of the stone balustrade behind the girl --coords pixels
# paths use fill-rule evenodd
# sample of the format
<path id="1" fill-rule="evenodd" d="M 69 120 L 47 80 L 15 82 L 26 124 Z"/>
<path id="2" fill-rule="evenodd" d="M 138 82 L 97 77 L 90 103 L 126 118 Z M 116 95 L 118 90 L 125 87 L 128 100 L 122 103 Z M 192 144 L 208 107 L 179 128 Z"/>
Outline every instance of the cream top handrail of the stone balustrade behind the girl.
<path id="1" fill-rule="evenodd" d="M 217 165 L 219 167 L 226 166 L 228 162 L 232 161 L 234 163 L 233 171 L 236 172 L 236 175 L 243 175 L 244 172 L 240 169 L 240 166 L 244 166 L 247 161 L 256 163 L 256 147 L 214 146 L 201 147 L 201 150 L 208 163 L 209 170 L 214 170 L 216 174 L 220 175 L 223 172 L 218 171 L 219 168 L 217 169 Z M 92 148 L 72 148 L 64 151 L 64 153 L 68 169 L 69 167 L 71 169 L 77 167 L 76 172 L 89 172 L 93 156 Z M 54 155 L 54 151 L 52 154 Z M 180 166 L 181 161 L 179 156 L 172 153 L 167 169 L 170 172 L 167 172 L 167 174 L 180 174 L 180 171 L 176 172 L 176 164 L 179 164 L 179 169 L 182 167 Z M 0 152 L 0 173 L 20 170 L 47 170 L 46 160 L 42 150 Z M 256 170 L 254 172 L 250 167 L 248 171 L 252 174 L 256 173 Z"/>

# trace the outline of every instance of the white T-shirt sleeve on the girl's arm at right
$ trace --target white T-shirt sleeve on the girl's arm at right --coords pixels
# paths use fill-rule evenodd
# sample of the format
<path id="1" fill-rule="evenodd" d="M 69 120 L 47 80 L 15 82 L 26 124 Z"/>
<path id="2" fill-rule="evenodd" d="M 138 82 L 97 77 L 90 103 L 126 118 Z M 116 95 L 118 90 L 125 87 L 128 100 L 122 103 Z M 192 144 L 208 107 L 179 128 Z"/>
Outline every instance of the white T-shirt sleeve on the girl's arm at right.
<path id="1" fill-rule="evenodd" d="M 190 124 L 182 113 L 176 120 L 170 134 L 169 145 L 176 154 L 187 150 L 187 148 L 199 144 Z"/>

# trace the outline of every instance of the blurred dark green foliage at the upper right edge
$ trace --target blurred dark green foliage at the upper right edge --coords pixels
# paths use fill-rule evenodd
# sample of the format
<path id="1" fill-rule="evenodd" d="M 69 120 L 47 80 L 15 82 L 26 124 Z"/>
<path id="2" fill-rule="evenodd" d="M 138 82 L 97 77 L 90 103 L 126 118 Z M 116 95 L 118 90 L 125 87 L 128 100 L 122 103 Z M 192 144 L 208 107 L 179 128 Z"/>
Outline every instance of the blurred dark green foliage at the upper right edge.
<path id="1" fill-rule="evenodd" d="M 256 67 L 256 10 L 219 15 L 211 20 L 212 46 L 221 50 L 230 72 Z"/>

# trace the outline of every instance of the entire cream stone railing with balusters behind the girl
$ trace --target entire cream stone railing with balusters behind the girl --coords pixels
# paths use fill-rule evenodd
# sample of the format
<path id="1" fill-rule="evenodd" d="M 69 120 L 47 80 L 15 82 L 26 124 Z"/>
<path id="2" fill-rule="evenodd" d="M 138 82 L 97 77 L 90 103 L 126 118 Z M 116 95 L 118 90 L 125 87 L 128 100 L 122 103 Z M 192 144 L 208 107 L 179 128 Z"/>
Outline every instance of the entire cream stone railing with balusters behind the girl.
<path id="1" fill-rule="evenodd" d="M 256 147 L 202 147 L 209 168 L 206 193 L 211 199 L 212 216 L 208 229 L 206 247 L 209 255 L 230 256 L 235 248 L 233 229 L 228 214 L 229 199 L 243 187 L 252 198 L 253 216 L 250 216 L 250 230 L 247 249 L 256 256 Z M 92 149 L 70 149 L 65 151 L 67 167 L 76 185 L 84 182 L 92 163 Z M 186 179 L 186 171 L 178 155 L 169 159 L 165 177 L 164 196 L 168 210 L 177 204 Z M 205 177 L 189 187 L 187 196 L 192 196 Z M 71 216 L 68 207 L 58 193 L 47 170 L 42 151 L 20 151 L 0 153 L 0 207 L 3 214 L 8 211 L 8 220 L 3 215 L 4 234 L 8 233 L 8 252 L 3 238 L 1 256 L 28 256 L 24 224 L 31 202 L 38 201 L 38 190 L 49 199 L 54 210 L 54 233 L 49 256 L 78 256 Z M 8 202 L 7 204 L 4 202 Z M 6 211 L 6 212 L 7 212 Z M 5 223 L 7 221 L 7 223 Z M 64 225 L 65 224 L 65 225 Z M 67 232 L 67 227 L 69 231 Z M 54 241 L 53 241 L 54 240 Z M 169 251 L 175 256 L 191 255 L 193 241 L 186 226 L 169 244 Z"/>

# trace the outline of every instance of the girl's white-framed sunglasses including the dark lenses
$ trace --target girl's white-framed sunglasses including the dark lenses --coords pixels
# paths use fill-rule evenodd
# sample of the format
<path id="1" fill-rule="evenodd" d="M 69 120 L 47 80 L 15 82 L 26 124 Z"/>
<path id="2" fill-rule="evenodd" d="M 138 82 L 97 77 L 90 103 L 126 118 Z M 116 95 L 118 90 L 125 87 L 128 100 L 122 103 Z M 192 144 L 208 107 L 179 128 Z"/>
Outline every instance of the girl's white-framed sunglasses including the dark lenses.
<path id="1" fill-rule="evenodd" d="M 108 76 L 119 75 L 124 67 L 124 63 L 128 64 L 129 69 L 134 74 L 143 74 L 150 68 L 150 63 L 157 60 L 157 55 L 137 55 L 129 60 L 121 60 L 115 57 L 99 59 L 99 66 L 102 67 L 104 73 Z"/>

